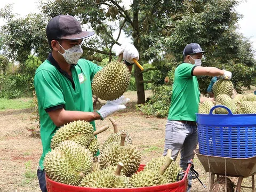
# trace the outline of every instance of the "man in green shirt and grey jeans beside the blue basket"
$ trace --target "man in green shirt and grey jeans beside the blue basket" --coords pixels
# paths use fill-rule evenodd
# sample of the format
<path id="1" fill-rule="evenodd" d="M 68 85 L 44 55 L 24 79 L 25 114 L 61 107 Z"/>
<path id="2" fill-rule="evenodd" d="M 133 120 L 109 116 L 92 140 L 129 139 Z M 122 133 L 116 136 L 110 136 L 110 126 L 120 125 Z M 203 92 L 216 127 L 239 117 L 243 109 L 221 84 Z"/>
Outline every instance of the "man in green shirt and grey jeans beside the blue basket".
<path id="1" fill-rule="evenodd" d="M 171 149 L 175 160 L 180 151 L 180 166 L 183 170 L 187 169 L 188 160 L 194 158 L 194 150 L 198 143 L 196 126 L 198 104 L 214 99 L 200 97 L 196 76 L 221 76 L 230 79 L 232 75 L 229 71 L 215 67 L 202 67 L 201 58 L 206 52 L 208 51 L 202 51 L 197 43 L 188 44 L 183 50 L 184 62 L 174 72 L 172 102 L 165 129 L 164 155 L 167 154 L 168 149 Z"/>

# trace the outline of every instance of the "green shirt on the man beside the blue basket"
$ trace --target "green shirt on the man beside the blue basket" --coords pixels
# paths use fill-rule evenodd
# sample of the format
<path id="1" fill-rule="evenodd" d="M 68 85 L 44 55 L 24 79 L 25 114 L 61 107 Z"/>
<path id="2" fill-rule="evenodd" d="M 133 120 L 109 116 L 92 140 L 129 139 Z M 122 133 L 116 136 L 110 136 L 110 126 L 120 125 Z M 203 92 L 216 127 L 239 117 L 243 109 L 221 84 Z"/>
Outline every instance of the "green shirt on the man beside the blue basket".
<path id="1" fill-rule="evenodd" d="M 193 76 L 195 67 L 181 63 L 175 69 L 169 120 L 196 121 L 200 92 L 197 77 Z"/>

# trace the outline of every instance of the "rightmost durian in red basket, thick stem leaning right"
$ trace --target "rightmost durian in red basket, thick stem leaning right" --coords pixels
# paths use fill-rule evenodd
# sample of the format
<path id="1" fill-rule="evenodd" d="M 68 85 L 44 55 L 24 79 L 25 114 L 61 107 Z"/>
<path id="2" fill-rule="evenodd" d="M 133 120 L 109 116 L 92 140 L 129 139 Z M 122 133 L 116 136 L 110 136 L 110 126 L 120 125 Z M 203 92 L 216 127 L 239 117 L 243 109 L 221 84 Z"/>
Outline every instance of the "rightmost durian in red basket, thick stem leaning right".
<path id="1" fill-rule="evenodd" d="M 165 163 L 160 170 L 143 170 L 137 174 L 133 174 L 129 180 L 129 187 L 150 187 L 165 185 L 167 183 L 166 177 L 163 177 L 165 170 L 172 163 L 173 158 L 167 157 Z"/>

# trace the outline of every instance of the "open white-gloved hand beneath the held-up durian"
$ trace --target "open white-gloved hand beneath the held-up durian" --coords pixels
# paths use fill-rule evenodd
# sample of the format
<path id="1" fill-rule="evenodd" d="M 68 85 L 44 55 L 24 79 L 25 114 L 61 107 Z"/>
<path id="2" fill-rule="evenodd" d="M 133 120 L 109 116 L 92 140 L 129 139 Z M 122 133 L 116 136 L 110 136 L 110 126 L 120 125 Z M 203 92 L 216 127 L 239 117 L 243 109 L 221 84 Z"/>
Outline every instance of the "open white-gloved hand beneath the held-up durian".
<path id="1" fill-rule="evenodd" d="M 113 101 L 107 101 L 106 105 L 103 105 L 97 113 L 101 116 L 102 120 L 105 119 L 107 116 L 114 114 L 118 110 L 125 109 L 125 105 L 127 102 L 129 102 L 129 98 L 124 98 L 122 95 L 120 98 L 113 100 Z"/>

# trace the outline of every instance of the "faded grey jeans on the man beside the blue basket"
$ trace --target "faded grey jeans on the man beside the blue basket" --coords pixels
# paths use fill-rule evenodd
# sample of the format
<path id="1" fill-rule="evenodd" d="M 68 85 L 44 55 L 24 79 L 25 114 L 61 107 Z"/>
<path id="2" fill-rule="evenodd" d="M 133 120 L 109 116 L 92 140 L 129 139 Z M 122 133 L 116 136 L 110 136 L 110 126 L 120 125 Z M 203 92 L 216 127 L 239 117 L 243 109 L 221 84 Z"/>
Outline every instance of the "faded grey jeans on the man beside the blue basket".
<path id="1" fill-rule="evenodd" d="M 180 166 L 187 169 L 187 162 L 193 159 L 198 143 L 197 126 L 188 125 L 178 121 L 167 120 L 165 128 L 164 154 L 167 150 L 172 150 L 172 158 L 176 160 L 180 151 Z"/>

